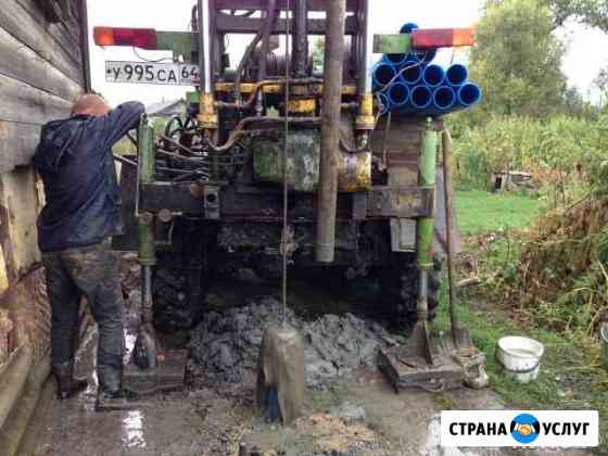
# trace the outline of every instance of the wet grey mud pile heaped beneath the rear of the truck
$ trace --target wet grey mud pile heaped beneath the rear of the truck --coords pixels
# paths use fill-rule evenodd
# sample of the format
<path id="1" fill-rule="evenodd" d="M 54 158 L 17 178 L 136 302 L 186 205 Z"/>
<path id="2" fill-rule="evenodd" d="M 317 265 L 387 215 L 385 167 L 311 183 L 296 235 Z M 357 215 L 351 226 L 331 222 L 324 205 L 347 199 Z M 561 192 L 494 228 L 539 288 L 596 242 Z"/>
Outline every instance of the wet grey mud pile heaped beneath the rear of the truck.
<path id="1" fill-rule="evenodd" d="M 249 381 L 257 367 L 263 331 L 280 316 L 281 305 L 273 297 L 206 314 L 189 345 L 197 372 L 213 383 Z M 287 321 L 303 335 L 309 387 L 343 378 L 362 365 L 375 366 L 378 349 L 393 343 L 381 326 L 352 314 L 304 321 L 288 309 Z"/>

